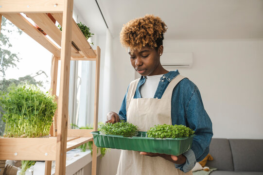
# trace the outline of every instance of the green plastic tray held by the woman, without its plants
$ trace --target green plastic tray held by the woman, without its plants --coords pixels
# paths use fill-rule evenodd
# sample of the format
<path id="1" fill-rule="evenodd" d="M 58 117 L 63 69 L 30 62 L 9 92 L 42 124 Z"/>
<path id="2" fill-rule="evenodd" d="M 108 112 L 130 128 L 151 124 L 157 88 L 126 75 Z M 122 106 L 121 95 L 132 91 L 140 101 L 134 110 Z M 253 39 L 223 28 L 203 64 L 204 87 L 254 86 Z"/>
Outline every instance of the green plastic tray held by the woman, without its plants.
<path id="1" fill-rule="evenodd" d="M 136 137 L 128 138 L 117 135 L 102 135 L 100 131 L 91 132 L 97 147 L 115 148 L 123 150 L 142 151 L 148 153 L 161 153 L 178 156 L 188 151 L 193 142 L 193 137 L 175 139 L 148 138 L 147 132 L 138 132 Z"/>

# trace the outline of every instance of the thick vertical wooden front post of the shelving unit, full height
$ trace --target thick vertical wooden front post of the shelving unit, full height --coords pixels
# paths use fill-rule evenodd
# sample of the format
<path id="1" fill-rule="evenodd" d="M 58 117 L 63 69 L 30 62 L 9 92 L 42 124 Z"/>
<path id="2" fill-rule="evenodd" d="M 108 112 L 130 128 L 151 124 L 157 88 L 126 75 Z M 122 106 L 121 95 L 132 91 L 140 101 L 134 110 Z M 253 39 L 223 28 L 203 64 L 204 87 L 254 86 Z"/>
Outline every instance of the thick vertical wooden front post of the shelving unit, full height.
<path id="1" fill-rule="evenodd" d="M 73 0 L 64 1 L 55 175 L 66 174 Z"/>

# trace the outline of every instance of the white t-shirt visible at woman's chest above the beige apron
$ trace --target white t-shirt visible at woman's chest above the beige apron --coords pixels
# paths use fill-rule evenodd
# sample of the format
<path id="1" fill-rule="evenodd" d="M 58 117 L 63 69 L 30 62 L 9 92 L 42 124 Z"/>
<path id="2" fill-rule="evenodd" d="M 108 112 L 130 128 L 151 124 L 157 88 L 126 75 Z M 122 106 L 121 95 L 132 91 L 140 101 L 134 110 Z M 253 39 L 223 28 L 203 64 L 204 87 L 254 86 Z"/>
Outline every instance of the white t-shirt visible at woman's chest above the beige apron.
<path id="1" fill-rule="evenodd" d="M 141 98 L 154 98 L 159 81 L 163 75 L 145 76 L 146 81 L 140 87 Z"/>

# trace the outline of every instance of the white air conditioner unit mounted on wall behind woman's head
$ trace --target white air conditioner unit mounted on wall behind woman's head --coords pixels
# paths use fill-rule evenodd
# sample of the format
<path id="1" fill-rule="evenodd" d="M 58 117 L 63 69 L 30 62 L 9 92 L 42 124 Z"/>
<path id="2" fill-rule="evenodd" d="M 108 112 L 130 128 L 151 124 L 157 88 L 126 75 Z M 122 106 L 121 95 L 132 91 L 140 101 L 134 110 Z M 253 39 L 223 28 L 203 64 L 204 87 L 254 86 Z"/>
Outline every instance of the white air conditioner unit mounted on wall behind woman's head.
<path id="1" fill-rule="evenodd" d="M 161 65 L 164 67 L 191 68 L 193 64 L 193 53 L 163 53 L 160 57 Z"/>

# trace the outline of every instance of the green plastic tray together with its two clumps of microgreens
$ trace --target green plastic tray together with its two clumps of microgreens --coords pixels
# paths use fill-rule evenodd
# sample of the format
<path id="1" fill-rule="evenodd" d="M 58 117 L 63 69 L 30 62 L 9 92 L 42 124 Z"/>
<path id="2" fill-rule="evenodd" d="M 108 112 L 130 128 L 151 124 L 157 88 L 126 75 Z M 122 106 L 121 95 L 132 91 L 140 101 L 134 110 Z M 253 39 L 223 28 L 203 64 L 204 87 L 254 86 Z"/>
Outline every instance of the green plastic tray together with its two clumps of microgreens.
<path id="1" fill-rule="evenodd" d="M 91 132 L 98 147 L 161 153 L 178 156 L 188 151 L 193 142 L 193 129 L 184 125 L 155 125 L 147 132 L 128 122 L 105 123 Z"/>

